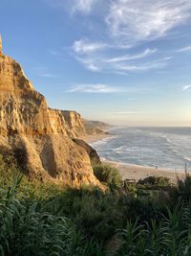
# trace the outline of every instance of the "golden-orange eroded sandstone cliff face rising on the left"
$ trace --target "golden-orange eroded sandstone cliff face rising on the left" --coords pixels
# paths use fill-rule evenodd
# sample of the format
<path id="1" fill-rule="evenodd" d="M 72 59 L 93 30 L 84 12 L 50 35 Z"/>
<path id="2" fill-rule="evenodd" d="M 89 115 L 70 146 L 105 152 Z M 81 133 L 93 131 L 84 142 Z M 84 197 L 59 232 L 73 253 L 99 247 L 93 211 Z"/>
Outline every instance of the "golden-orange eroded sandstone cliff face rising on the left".
<path id="1" fill-rule="evenodd" d="M 99 186 L 87 152 L 71 139 L 80 132 L 79 114 L 50 109 L 21 66 L 0 49 L 0 146 L 24 150 L 30 176 Z"/>

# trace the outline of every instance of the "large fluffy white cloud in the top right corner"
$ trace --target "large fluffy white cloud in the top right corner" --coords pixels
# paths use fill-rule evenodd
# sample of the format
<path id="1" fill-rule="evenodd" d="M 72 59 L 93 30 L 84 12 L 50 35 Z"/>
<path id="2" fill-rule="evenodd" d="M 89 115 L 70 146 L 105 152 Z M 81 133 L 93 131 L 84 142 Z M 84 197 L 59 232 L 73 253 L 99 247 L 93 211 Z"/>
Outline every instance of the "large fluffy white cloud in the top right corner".
<path id="1" fill-rule="evenodd" d="M 116 0 L 106 22 L 112 36 L 129 43 L 167 35 L 190 17 L 190 0 Z"/>

